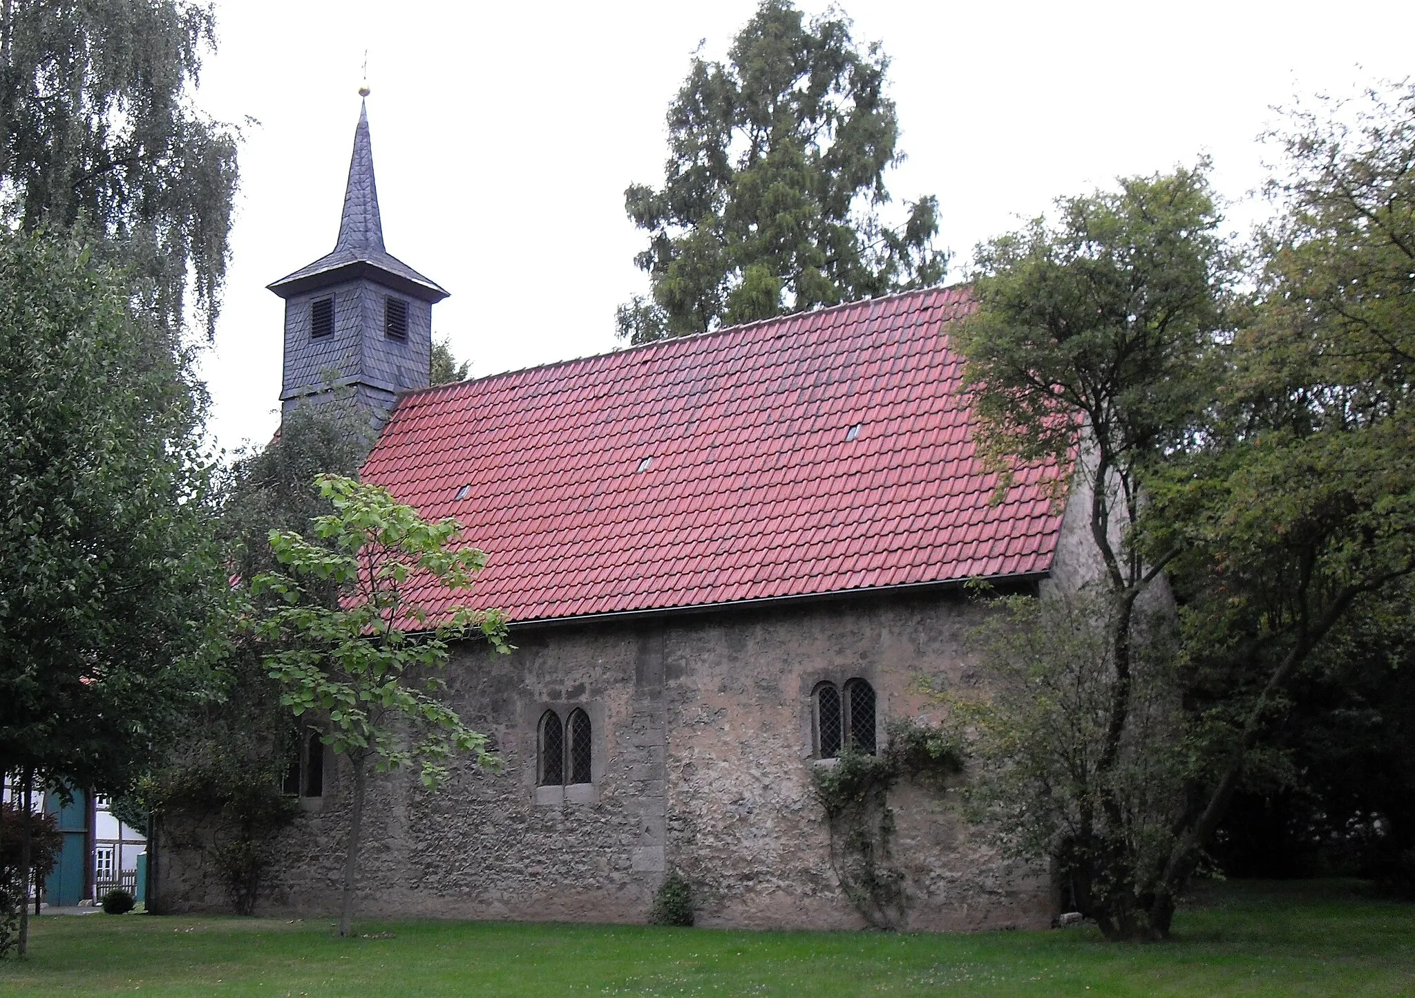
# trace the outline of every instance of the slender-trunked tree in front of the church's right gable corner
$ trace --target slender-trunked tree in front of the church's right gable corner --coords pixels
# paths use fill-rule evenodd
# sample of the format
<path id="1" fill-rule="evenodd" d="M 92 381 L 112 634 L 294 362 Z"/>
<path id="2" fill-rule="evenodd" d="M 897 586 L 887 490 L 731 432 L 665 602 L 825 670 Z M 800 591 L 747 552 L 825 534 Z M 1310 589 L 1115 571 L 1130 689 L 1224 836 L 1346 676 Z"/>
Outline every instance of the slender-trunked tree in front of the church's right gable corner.
<path id="1" fill-rule="evenodd" d="M 1213 396 L 1232 280 L 1206 173 L 1201 163 L 1064 198 L 1054 224 L 1039 218 L 979 246 L 978 309 L 955 335 L 975 439 L 999 488 L 1016 461 L 1039 463 L 1058 494 L 1085 504 L 1105 660 L 1084 675 L 1105 701 L 1105 723 L 1077 777 L 1085 807 L 1074 825 L 1053 824 L 1050 849 L 1080 909 L 1111 937 L 1167 931 L 1149 920 L 1155 878 L 1140 868 L 1149 851 L 1135 848 L 1152 815 L 1128 808 L 1119 787 L 1138 723 L 1136 612 L 1177 554 L 1146 558 L 1133 525 L 1146 480 Z"/>

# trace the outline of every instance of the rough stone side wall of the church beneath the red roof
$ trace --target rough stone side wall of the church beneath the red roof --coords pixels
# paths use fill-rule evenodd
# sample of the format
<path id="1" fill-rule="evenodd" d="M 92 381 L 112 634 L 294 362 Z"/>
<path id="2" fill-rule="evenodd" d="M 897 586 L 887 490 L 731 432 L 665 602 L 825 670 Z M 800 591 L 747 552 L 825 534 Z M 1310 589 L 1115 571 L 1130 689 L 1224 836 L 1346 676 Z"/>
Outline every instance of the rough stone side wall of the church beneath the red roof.
<path id="1" fill-rule="evenodd" d="M 461 650 L 447 678 L 463 716 L 488 732 L 499 773 L 454 770 L 439 793 L 412 774 L 376 777 L 362 851 L 365 916 L 644 922 L 668 868 L 695 885 L 698 923 L 850 929 L 862 917 L 831 866 L 811 791 L 811 694 L 865 678 L 891 718 L 928 712 L 918 675 L 971 679 L 964 634 L 981 610 L 957 593 L 516 629 L 511 655 Z M 536 787 L 538 722 L 586 708 L 590 784 Z M 325 764 L 324 796 L 284 835 L 258 913 L 338 907 L 347 786 Z M 894 865 L 908 927 L 1043 927 L 1046 878 L 1005 862 L 947 796 L 890 794 Z M 158 864 L 167 910 L 224 900 L 200 852 Z"/>

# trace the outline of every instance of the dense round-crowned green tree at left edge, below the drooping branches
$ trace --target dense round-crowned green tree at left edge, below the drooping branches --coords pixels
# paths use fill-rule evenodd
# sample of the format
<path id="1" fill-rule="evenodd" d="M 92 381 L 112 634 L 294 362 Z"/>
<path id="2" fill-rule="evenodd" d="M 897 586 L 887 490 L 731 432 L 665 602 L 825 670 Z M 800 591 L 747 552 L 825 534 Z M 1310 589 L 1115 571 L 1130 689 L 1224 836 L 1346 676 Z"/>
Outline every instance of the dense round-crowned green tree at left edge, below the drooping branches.
<path id="1" fill-rule="evenodd" d="M 129 287 L 0 236 L 0 769 L 24 796 L 126 788 L 219 644 L 202 394 Z"/>

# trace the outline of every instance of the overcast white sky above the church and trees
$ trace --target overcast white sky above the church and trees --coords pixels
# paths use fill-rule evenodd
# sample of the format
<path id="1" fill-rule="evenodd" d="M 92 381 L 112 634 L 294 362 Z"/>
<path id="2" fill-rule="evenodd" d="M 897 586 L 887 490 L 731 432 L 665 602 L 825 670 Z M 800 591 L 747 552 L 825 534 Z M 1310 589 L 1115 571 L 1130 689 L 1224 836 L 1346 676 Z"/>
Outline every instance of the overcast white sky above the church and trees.
<path id="1" fill-rule="evenodd" d="M 204 361 L 219 446 L 277 423 L 282 302 L 265 286 L 334 245 L 365 50 L 388 249 L 451 292 L 433 328 L 480 377 L 616 348 L 614 307 L 647 289 L 624 187 L 661 183 L 689 55 L 699 40 L 722 55 L 754 7 L 218 1 L 198 103 L 258 122 Z M 1409 0 L 841 7 L 893 59 L 908 159 L 890 191 L 935 194 L 961 256 L 1053 197 L 1201 153 L 1241 200 L 1274 154 L 1257 140 L 1272 105 L 1415 72 Z M 1252 214 L 1235 205 L 1234 228 Z"/>

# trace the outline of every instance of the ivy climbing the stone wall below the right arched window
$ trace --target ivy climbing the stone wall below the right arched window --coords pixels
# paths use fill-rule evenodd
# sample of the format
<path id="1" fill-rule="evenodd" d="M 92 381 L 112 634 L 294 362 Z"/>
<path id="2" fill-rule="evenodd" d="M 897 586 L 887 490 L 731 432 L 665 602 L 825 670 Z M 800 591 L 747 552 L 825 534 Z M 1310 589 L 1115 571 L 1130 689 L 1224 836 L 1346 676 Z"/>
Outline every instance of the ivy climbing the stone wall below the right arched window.
<path id="1" fill-rule="evenodd" d="M 894 811 L 889 791 L 913 779 L 942 788 L 962 772 L 962 740 L 942 725 L 900 718 L 879 755 L 846 750 L 816 764 L 812 783 L 831 832 L 831 866 L 846 897 L 874 929 L 903 929 L 910 897 L 894 865 Z"/>

